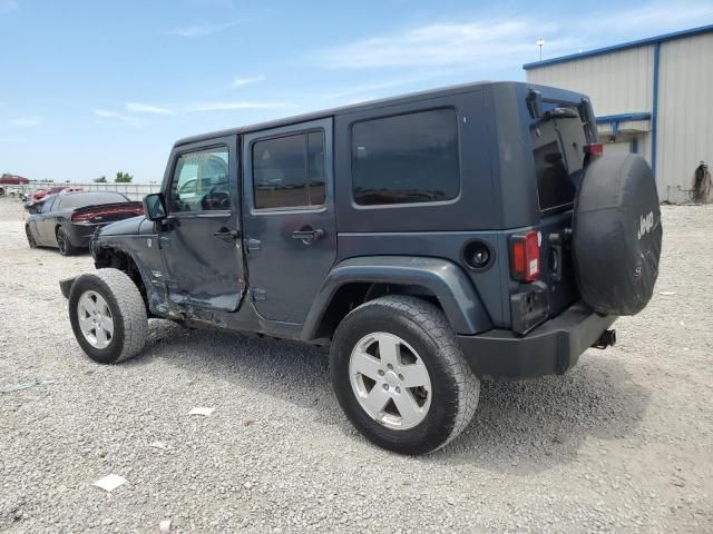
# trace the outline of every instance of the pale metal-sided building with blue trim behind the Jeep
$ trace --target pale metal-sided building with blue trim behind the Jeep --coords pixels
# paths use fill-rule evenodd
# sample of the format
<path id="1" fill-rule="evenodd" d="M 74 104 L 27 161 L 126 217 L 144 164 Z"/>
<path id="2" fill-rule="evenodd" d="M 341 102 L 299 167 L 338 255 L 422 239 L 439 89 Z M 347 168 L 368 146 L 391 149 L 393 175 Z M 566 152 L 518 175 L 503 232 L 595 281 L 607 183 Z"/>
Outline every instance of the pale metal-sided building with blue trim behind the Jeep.
<path id="1" fill-rule="evenodd" d="M 713 168 L 713 24 L 524 66 L 527 81 L 588 95 L 605 151 L 642 154 L 662 200 Z"/>

